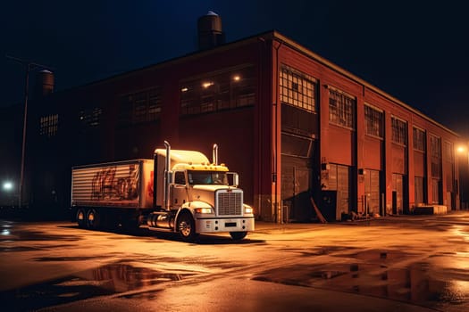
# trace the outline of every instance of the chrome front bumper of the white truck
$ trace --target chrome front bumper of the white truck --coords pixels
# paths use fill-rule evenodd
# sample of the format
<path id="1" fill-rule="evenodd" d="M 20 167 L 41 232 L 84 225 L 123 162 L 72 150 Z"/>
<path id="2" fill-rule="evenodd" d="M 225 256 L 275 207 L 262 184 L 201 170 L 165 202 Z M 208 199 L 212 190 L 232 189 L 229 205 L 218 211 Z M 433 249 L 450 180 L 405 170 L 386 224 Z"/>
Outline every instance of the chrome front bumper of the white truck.
<path id="1" fill-rule="evenodd" d="M 197 233 L 251 232 L 254 231 L 254 217 L 243 218 L 197 218 Z"/>

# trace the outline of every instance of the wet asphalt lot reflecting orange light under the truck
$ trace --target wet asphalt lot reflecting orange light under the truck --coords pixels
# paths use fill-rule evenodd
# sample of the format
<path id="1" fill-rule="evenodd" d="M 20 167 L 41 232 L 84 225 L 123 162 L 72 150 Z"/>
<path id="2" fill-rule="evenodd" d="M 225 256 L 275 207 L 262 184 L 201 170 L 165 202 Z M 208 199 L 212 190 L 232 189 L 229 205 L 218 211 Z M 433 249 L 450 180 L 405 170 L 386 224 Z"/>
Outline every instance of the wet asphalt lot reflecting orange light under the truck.
<path id="1" fill-rule="evenodd" d="M 0 220 L 6 311 L 469 311 L 469 213 L 258 222 L 242 242 Z"/>

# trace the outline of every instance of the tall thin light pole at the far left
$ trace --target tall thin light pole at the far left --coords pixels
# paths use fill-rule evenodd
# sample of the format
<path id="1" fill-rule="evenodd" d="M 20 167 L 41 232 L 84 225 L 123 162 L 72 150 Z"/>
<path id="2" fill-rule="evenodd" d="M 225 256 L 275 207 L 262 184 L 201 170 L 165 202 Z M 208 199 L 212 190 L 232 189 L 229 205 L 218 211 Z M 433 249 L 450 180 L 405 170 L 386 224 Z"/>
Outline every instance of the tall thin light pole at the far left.
<path id="1" fill-rule="evenodd" d="M 19 62 L 23 65 L 26 69 L 26 77 L 25 77 L 25 86 L 24 86 L 24 114 L 23 114 L 23 137 L 22 137 L 22 144 L 21 144 L 21 174 L 20 174 L 20 186 L 18 190 L 18 205 L 21 208 L 22 204 L 22 192 L 23 192 L 23 184 L 24 184 L 24 157 L 25 157 L 25 150 L 26 150 L 26 126 L 28 123 L 28 95 L 29 95 L 29 71 L 36 70 L 38 68 L 51 70 L 46 65 L 38 64 L 37 62 L 30 62 L 27 60 L 22 60 L 20 58 L 5 55 L 7 59 L 12 60 L 14 62 Z"/>

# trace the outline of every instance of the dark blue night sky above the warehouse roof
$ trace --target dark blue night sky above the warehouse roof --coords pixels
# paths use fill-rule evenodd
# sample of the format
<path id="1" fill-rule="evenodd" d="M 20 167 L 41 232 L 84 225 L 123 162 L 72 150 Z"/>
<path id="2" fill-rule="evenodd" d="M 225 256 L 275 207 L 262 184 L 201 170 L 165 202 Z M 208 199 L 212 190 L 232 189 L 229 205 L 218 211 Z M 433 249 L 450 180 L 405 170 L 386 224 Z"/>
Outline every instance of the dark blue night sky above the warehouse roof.
<path id="1" fill-rule="evenodd" d="M 197 19 L 222 17 L 226 41 L 276 29 L 469 139 L 464 2 L 7 1 L 0 11 L 0 106 L 21 103 L 24 69 L 54 69 L 55 90 L 197 49 Z"/>

